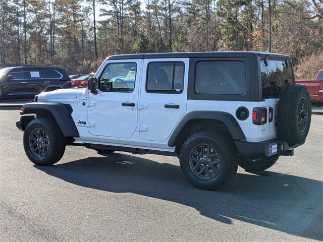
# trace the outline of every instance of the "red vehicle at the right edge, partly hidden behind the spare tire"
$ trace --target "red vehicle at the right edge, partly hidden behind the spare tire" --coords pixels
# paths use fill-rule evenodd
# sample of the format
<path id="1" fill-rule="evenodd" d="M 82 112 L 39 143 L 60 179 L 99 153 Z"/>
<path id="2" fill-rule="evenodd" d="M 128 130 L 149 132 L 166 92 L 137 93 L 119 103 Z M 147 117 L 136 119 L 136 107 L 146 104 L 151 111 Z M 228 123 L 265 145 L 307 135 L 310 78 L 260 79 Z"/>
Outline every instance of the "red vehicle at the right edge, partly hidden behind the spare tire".
<path id="1" fill-rule="evenodd" d="M 320 107 L 323 104 L 323 69 L 319 70 L 316 79 L 296 79 L 296 84 L 304 85 L 311 97 L 312 104 Z"/>

